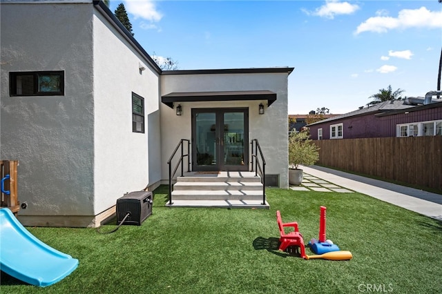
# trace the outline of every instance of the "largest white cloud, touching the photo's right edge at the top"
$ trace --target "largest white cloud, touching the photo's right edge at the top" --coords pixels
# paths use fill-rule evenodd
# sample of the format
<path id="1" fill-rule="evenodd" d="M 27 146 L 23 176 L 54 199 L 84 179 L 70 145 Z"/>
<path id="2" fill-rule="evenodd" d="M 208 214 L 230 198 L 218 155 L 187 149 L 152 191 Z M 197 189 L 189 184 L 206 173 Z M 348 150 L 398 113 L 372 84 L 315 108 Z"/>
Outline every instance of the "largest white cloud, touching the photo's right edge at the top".
<path id="1" fill-rule="evenodd" d="M 376 15 L 378 15 L 377 12 Z M 399 11 L 396 18 L 384 15 L 385 12 L 382 12 L 376 17 L 370 17 L 356 28 L 355 34 L 405 28 L 442 28 L 442 11 L 434 12 L 425 7 L 403 9 Z"/>

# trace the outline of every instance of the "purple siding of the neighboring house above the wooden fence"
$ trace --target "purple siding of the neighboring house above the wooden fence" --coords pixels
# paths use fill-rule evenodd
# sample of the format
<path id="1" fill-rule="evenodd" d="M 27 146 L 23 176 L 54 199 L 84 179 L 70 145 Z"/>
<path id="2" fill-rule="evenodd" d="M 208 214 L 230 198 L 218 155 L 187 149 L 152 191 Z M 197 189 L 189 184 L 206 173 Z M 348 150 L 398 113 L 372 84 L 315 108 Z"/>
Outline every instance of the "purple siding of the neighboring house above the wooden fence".
<path id="1" fill-rule="evenodd" d="M 376 117 L 373 113 L 325 121 L 310 126 L 311 139 L 318 139 L 318 128 L 323 129 L 323 139 L 330 139 L 330 126 L 343 124 L 343 139 L 396 137 L 396 124 L 442 119 L 442 107 L 427 108 L 409 113 Z"/>

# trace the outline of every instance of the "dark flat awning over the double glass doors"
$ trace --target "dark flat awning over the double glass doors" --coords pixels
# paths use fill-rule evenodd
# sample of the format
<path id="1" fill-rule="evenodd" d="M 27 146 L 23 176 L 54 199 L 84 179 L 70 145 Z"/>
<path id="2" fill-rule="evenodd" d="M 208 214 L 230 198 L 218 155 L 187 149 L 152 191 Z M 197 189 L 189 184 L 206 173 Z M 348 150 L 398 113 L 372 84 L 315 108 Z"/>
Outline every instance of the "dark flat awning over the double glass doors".
<path id="1" fill-rule="evenodd" d="M 173 108 L 174 102 L 267 100 L 270 106 L 276 93 L 268 90 L 225 92 L 171 92 L 161 97 L 162 103 Z"/>

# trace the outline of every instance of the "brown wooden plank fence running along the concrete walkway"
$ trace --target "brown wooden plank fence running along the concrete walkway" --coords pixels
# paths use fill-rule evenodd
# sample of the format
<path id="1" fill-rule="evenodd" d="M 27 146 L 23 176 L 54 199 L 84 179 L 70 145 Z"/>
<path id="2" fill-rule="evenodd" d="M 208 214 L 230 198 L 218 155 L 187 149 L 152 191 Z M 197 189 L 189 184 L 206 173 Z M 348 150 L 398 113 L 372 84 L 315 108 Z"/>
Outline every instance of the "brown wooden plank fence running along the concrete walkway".
<path id="1" fill-rule="evenodd" d="M 315 140 L 322 166 L 442 191 L 442 136 Z"/>

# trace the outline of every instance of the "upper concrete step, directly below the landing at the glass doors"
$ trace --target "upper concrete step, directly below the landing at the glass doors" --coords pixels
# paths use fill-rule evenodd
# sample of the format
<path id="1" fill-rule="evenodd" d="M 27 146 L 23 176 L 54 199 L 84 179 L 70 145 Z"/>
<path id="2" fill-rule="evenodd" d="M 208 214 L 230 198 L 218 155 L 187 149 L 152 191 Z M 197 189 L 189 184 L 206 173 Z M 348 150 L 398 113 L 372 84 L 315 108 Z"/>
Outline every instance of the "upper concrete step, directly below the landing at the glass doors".
<path id="1" fill-rule="evenodd" d="M 261 182 L 177 182 L 173 190 L 260 190 Z"/>

